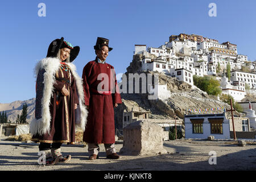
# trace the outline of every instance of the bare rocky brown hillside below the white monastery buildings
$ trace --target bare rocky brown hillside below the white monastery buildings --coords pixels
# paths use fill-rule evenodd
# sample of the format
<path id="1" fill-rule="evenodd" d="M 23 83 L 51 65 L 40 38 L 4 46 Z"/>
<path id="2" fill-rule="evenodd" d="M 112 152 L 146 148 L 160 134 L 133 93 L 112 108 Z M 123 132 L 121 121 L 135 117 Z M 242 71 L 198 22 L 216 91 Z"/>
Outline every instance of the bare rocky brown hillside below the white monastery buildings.
<path id="1" fill-rule="evenodd" d="M 154 75 L 156 72 L 141 71 L 141 55 L 134 55 L 127 72 L 129 73 L 151 73 Z M 123 104 L 115 109 L 115 119 L 118 128 L 122 126 L 122 111 L 129 107 L 136 106 L 138 110 L 151 111 L 150 118 L 167 119 L 174 118 L 174 113 L 177 117 L 183 119 L 187 109 L 211 109 L 216 107 L 224 107 L 230 109 L 230 106 L 225 102 L 218 101 L 217 97 L 209 96 L 206 92 L 198 88 L 192 88 L 186 82 L 179 81 L 175 77 L 167 76 L 164 73 L 159 74 L 159 85 L 167 84 L 168 90 L 171 92 L 171 97 L 164 100 L 148 100 L 148 94 L 129 94 L 122 93 L 121 97 Z M 127 86 L 128 88 L 128 86 Z M 131 109 L 128 109 L 131 110 Z M 238 113 L 235 113 L 238 115 Z"/>

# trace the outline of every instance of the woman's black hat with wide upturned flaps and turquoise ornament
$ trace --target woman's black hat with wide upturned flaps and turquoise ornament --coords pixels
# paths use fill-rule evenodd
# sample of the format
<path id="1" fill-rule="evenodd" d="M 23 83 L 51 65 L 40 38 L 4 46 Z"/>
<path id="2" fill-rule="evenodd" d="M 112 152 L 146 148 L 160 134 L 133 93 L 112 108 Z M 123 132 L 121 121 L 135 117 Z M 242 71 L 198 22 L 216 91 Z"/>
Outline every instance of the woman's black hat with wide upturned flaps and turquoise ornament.
<path id="1" fill-rule="evenodd" d="M 80 47 L 79 46 L 73 47 L 72 44 L 65 41 L 64 38 L 55 39 L 51 42 L 51 44 L 49 44 L 46 57 L 56 57 L 57 53 L 59 52 L 59 49 L 65 48 L 65 47 L 71 49 L 70 57 L 69 57 L 69 62 L 71 63 L 73 60 L 76 59 L 77 55 L 79 55 Z"/>

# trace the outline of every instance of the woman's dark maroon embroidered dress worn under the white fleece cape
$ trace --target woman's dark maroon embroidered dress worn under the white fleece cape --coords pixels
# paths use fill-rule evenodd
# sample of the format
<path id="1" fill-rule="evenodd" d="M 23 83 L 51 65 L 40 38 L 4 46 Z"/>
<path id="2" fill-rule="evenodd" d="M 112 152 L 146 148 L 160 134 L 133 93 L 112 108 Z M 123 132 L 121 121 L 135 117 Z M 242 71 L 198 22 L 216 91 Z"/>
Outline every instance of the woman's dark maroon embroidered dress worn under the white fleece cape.
<path id="1" fill-rule="evenodd" d="M 42 118 L 42 104 L 44 88 L 45 69 L 40 69 L 36 79 L 36 119 Z M 75 79 L 65 63 L 60 64 L 60 68 L 55 73 L 55 84 L 53 84 L 53 94 L 49 105 L 51 113 L 51 123 L 49 134 L 35 134 L 32 141 L 44 143 L 75 143 L 75 104 L 79 104 Z M 62 88 L 69 92 L 68 96 L 61 93 Z"/>

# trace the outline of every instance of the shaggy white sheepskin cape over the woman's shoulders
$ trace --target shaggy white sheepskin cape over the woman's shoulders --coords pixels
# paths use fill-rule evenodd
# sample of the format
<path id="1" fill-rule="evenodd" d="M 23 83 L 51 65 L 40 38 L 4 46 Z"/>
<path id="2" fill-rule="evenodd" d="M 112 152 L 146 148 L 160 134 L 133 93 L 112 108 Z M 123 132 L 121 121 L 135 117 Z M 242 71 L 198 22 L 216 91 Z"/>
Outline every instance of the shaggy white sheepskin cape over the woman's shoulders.
<path id="1" fill-rule="evenodd" d="M 77 95 L 79 97 L 79 105 L 76 109 L 76 130 L 85 130 L 88 111 L 84 105 L 84 90 L 82 87 L 82 79 L 76 72 L 76 66 L 72 63 L 66 63 L 75 78 Z M 43 135 L 50 132 L 51 113 L 49 110 L 51 97 L 54 92 L 53 84 L 55 84 L 55 73 L 60 68 L 60 61 L 56 57 L 46 57 L 36 64 L 34 69 L 35 77 L 38 76 L 40 69 L 46 72 L 43 74 L 43 97 L 41 100 L 42 118 L 33 119 L 30 123 L 30 133 L 32 135 Z"/>

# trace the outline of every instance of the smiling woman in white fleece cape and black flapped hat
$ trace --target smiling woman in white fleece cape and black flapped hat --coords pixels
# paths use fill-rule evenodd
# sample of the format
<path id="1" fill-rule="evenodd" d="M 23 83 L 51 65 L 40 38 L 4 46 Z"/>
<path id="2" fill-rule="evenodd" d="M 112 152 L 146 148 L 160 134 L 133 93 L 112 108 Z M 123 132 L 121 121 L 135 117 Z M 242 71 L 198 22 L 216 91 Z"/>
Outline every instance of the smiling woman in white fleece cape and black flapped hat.
<path id="1" fill-rule="evenodd" d="M 82 81 L 71 63 L 79 51 L 79 46 L 73 47 L 64 38 L 53 40 L 46 58 L 35 67 L 36 107 L 30 133 L 32 141 L 40 142 L 39 154 L 46 155 L 46 165 L 71 160 L 71 155 L 61 154 L 60 146 L 75 143 L 75 128 L 85 130 Z"/>

